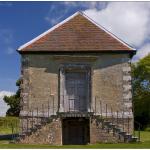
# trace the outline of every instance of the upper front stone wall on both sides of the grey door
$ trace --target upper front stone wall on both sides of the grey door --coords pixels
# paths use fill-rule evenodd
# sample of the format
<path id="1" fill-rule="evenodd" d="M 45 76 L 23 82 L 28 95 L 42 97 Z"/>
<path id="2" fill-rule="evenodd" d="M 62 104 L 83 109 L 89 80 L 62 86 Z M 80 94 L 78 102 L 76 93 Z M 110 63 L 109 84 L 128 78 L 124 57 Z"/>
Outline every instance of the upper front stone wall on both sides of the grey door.
<path id="1" fill-rule="evenodd" d="M 127 54 L 82 54 L 82 55 L 50 55 L 24 54 L 22 56 L 21 96 L 23 110 L 42 111 L 47 109 L 55 112 L 59 109 L 59 68 L 62 64 L 86 64 L 91 67 L 91 103 L 93 111 L 105 116 L 108 105 L 108 115 L 119 111 L 119 117 L 133 118 L 132 94 L 129 56 Z M 95 105 L 96 99 L 96 105 Z M 54 106 L 53 105 L 54 100 Z"/>

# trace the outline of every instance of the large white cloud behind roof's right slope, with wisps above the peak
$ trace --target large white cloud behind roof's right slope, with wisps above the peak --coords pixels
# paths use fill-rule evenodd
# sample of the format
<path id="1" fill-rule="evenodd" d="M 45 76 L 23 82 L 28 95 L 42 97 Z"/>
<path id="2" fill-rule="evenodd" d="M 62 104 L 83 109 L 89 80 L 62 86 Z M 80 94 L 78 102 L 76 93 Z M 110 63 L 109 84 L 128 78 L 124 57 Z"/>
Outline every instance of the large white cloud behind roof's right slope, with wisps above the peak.
<path id="1" fill-rule="evenodd" d="M 51 5 L 45 20 L 52 25 L 62 21 L 73 10 L 82 10 L 87 16 L 136 48 L 137 56 L 147 55 L 145 43 L 150 41 L 150 2 L 74 2 L 60 3 L 64 9 L 57 11 L 57 5 Z M 143 49 L 144 48 L 144 49 Z M 146 48 L 148 49 L 148 48 Z M 148 50 L 147 50 L 148 51 Z"/>

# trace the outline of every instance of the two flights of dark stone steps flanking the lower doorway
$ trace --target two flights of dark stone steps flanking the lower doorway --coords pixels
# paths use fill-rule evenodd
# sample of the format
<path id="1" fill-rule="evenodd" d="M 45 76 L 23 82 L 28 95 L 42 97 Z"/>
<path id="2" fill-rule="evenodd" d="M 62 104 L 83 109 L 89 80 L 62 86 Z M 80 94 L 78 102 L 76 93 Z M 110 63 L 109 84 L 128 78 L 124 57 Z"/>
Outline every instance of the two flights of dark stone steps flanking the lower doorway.
<path id="1" fill-rule="evenodd" d="M 30 140 L 38 134 L 42 134 L 42 128 L 51 124 L 53 120 L 56 120 L 57 118 L 60 118 L 60 116 L 52 115 L 49 118 L 42 118 L 41 121 L 35 123 L 32 128 L 29 128 L 28 130 L 19 134 L 19 136 L 15 138 L 15 141 L 21 143 L 22 141 L 27 141 L 27 138 L 28 140 Z M 116 123 L 112 123 L 110 120 L 102 118 L 99 115 L 91 115 L 91 118 L 95 120 L 97 129 L 102 130 L 103 133 L 107 134 L 110 138 L 114 138 L 115 143 L 139 142 L 138 137 L 126 132 L 125 130 L 120 128 Z M 47 143 L 50 143 L 50 141 L 48 141 Z"/>

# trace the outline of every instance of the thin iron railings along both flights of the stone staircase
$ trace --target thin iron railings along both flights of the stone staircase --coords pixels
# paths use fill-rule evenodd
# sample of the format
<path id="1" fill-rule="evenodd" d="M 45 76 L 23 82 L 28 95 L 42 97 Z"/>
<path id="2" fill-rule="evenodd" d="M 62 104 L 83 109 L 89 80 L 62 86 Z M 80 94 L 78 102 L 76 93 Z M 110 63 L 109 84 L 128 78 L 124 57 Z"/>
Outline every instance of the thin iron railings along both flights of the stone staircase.
<path id="1" fill-rule="evenodd" d="M 62 95 L 63 96 L 63 95 Z M 93 103 L 91 105 L 87 105 L 87 107 L 84 106 L 81 103 L 80 100 L 82 100 L 82 97 L 78 97 L 78 99 L 73 99 L 74 101 L 78 100 L 77 105 L 72 105 L 75 107 L 74 109 L 70 109 L 70 105 L 67 104 L 65 101 L 65 96 L 63 96 L 63 101 L 61 104 L 61 107 L 63 108 L 61 111 L 59 108 L 55 107 L 55 101 L 54 96 L 52 99 L 48 100 L 47 103 L 43 103 L 40 107 L 32 107 L 29 109 L 29 111 L 26 113 L 26 125 L 21 126 L 22 133 L 24 130 L 27 132 L 34 128 L 37 124 L 42 124 L 42 121 L 44 118 L 49 119 L 51 116 L 58 115 L 60 113 L 65 113 L 66 117 L 70 117 L 70 115 L 67 114 L 73 114 L 73 113 L 79 113 L 79 114 L 86 114 L 91 113 L 92 116 L 97 116 L 101 118 L 101 120 L 110 121 L 112 125 L 114 124 L 116 127 L 121 128 L 123 131 L 126 131 L 128 134 L 131 133 L 132 130 L 132 123 L 130 122 L 130 119 L 132 119 L 130 112 L 125 112 L 124 109 L 118 110 L 113 109 L 112 105 L 108 105 L 107 103 L 104 103 L 100 98 L 94 97 Z M 69 100 L 69 98 L 67 99 Z M 87 104 L 87 103 L 85 103 Z M 88 109 L 89 107 L 89 109 Z M 77 117 L 83 117 L 77 116 Z M 13 128 L 12 128 L 13 129 Z M 12 130 L 14 132 L 14 129 Z M 135 132 L 134 132 L 135 136 Z M 140 141 L 140 125 L 138 130 L 138 139 Z"/>

